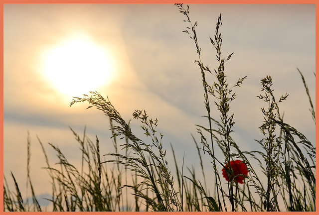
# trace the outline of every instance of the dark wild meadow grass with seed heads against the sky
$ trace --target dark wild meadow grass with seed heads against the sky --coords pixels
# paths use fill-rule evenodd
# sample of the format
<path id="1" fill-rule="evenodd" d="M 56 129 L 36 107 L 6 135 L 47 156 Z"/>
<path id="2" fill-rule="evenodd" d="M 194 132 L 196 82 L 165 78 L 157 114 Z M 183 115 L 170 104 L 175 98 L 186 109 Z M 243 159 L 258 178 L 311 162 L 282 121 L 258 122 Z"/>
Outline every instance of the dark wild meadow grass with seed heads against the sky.
<path id="1" fill-rule="evenodd" d="M 229 85 L 225 65 L 231 59 L 222 55 L 221 14 L 217 18 L 215 35 L 210 38 L 216 50 L 218 67 L 210 70 L 201 59 L 201 48 L 197 41 L 197 22 L 189 17 L 189 6 L 175 4 L 184 15 L 188 27 L 184 31 L 195 43 L 198 65 L 204 93 L 207 125 L 196 125 L 200 143 L 192 135 L 198 153 L 201 175 L 194 168 L 184 166 L 184 157 L 176 158 L 170 145 L 174 164 L 167 162 L 163 134 L 158 130 L 158 119 L 151 118 L 146 110 L 135 110 L 133 119 L 141 124 L 146 140 L 131 130 L 128 122 L 112 105 L 97 92 L 74 98 L 76 103 L 88 103 L 88 108 L 97 108 L 110 121 L 111 141 L 114 153 L 103 154 L 96 136 L 90 140 L 84 129 L 83 136 L 72 128 L 82 153 L 81 168 L 77 169 L 55 145 L 58 163 L 51 164 L 45 146 L 40 139 L 51 178 L 52 211 L 315 211 L 316 148 L 305 135 L 284 121 L 280 103 L 289 99 L 283 95 L 275 98 L 272 77 L 261 79 L 261 94 L 258 98 L 265 103 L 261 109 L 264 117 L 260 125 L 263 138 L 255 140 L 260 151 L 242 151 L 232 138 L 235 113 L 230 111 L 236 99 L 235 89 L 244 84 L 246 76 Z M 310 102 L 310 111 L 316 123 L 316 115 L 309 89 L 302 72 L 297 69 L 304 83 Z M 206 76 L 215 81 L 209 84 Z M 231 87 L 230 87 L 231 86 Z M 218 111 L 220 118 L 212 118 L 212 111 Z M 14 189 L 4 177 L 3 206 L 5 211 L 42 211 L 33 190 L 30 178 L 30 145 L 27 139 L 27 189 L 32 202 L 25 201 L 20 193 L 14 175 Z M 220 151 L 223 160 L 218 159 Z M 101 161 L 104 157 L 106 161 Z M 214 180 L 207 180 L 204 171 L 204 157 L 210 160 Z M 220 157 L 220 156 L 219 156 Z M 240 160 L 240 163 L 236 160 Z M 181 165 L 180 165 L 181 164 Z M 258 165 L 256 165 L 258 164 Z M 175 167 L 175 172 L 169 167 Z M 224 168 L 225 175 L 220 175 Z M 248 174 L 243 169 L 248 170 Z M 187 170 L 187 172 L 185 171 Z M 185 173 L 186 172 L 186 173 Z M 262 174 L 261 174 L 261 173 Z M 227 178 L 227 184 L 224 178 Z M 243 179 L 240 185 L 239 177 Z M 264 183 L 261 179 L 267 178 Z"/>

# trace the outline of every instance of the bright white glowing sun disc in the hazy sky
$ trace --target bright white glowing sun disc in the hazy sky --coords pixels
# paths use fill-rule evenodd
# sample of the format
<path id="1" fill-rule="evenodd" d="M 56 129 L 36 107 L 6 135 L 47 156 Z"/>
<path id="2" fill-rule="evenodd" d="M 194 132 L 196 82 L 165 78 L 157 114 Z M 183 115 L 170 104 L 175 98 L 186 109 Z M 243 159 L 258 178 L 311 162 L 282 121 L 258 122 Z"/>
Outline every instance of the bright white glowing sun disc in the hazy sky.
<path id="1" fill-rule="evenodd" d="M 86 37 L 52 48 L 45 56 L 45 74 L 57 90 L 71 96 L 98 90 L 113 78 L 107 50 Z"/>

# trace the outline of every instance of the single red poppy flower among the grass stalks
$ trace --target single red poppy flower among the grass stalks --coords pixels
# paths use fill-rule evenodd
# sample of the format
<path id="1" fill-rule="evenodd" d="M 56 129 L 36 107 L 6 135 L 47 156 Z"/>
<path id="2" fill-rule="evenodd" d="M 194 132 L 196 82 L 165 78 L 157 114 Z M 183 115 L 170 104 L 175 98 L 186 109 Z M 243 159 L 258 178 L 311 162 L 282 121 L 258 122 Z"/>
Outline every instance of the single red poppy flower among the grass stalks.
<path id="1" fill-rule="evenodd" d="M 230 166 L 234 171 L 235 182 L 243 184 L 244 183 L 243 180 L 248 176 L 248 169 L 246 164 L 243 163 L 241 160 L 235 160 L 235 161 L 230 161 Z M 226 164 L 225 167 L 228 167 L 228 165 Z M 230 181 L 228 178 L 228 174 L 226 173 L 225 167 L 222 169 L 223 176 L 227 181 Z"/>

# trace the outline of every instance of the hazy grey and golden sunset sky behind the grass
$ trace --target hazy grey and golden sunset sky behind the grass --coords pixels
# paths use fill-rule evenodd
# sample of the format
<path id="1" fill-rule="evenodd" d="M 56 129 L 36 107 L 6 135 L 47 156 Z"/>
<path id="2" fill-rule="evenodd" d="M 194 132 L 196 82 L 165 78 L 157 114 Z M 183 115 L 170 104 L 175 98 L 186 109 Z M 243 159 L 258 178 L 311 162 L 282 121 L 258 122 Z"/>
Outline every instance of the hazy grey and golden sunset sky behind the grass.
<path id="1" fill-rule="evenodd" d="M 38 195 L 49 193 L 50 188 L 48 174 L 41 169 L 45 160 L 37 137 L 52 162 L 55 153 L 48 142 L 57 145 L 69 162 L 81 161 L 69 126 L 80 136 L 86 126 L 91 140 L 97 135 L 102 154 L 113 150 L 109 119 L 101 111 L 86 109 L 87 103 L 69 107 L 72 97 L 90 90 L 108 97 L 126 121 L 133 119 L 135 109 L 158 118 L 167 159 L 172 161 L 171 143 L 177 163 L 181 165 L 185 155 L 185 166 L 198 167 L 191 134 L 199 143 L 195 125 L 207 126 L 202 117 L 207 113 L 200 70 L 194 63 L 198 59 L 195 45 L 182 32 L 189 25 L 176 6 L 4 4 L 3 8 L 3 173 L 9 181 L 12 171 L 22 193 L 28 132 L 31 177 Z M 260 150 L 255 139 L 263 138 L 259 126 L 265 104 L 257 96 L 266 75 L 273 78 L 277 99 L 289 94 L 280 105 L 284 120 L 315 144 L 315 123 L 297 70 L 303 72 L 315 105 L 315 4 L 190 4 L 190 19 L 198 23 L 202 61 L 211 69 L 218 66 L 209 37 L 214 35 L 219 13 L 223 56 L 234 52 L 225 65 L 229 86 L 247 75 L 243 85 L 234 89 L 237 98 L 230 108 L 235 113 L 232 137 L 237 145 L 242 150 Z M 85 49 L 83 41 L 91 46 Z M 78 46 L 82 48 L 74 51 Z M 66 47 L 73 47 L 73 52 Z M 83 50 L 90 53 L 85 55 L 92 58 L 90 66 L 77 58 Z M 73 64 L 62 64 L 65 59 Z M 215 77 L 209 75 L 212 83 Z M 84 77 L 84 82 L 77 77 Z M 215 107 L 211 114 L 219 118 Z M 143 139 L 140 125 L 132 120 L 133 131 Z M 212 171 L 208 157 L 204 166 Z M 174 172 L 174 164 L 169 167 Z"/>

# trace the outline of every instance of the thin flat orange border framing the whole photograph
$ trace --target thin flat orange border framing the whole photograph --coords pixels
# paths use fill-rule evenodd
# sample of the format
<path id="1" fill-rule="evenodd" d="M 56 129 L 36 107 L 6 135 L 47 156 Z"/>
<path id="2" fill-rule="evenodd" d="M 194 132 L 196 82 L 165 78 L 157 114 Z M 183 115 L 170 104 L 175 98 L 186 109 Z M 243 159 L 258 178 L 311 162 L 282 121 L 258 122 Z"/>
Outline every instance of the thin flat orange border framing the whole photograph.
<path id="1" fill-rule="evenodd" d="M 318 0 L 307 0 L 302 1 L 302 0 L 262 0 L 262 1 L 258 1 L 256 2 L 256 0 L 190 0 L 187 3 L 315 3 L 316 4 L 316 62 L 319 62 L 319 58 L 318 58 L 318 44 L 317 44 L 317 38 L 318 38 L 318 33 L 319 33 L 319 28 L 318 28 L 318 23 L 319 23 L 319 18 L 318 18 L 318 7 L 317 7 L 317 2 Z M 0 147 L 0 154 L 3 155 L 3 4 L 5 3 L 176 3 L 176 2 L 172 2 L 171 0 L 157 0 L 157 1 L 150 1 L 150 0 L 1 0 L 1 4 L 0 4 L 0 13 L 1 13 L 1 34 L 0 34 L 0 39 L 2 41 L 1 43 L 1 59 L 0 59 L 0 65 L 2 65 L 1 67 L 1 76 L 0 76 L 0 80 L 1 80 L 1 94 L 0 94 L 0 101 L 1 101 L 1 106 L 0 106 L 0 111 L 1 111 L 1 115 L 0 115 L 0 119 L 2 121 L 2 124 L 0 125 L 0 136 L 1 136 L 1 147 Z M 319 69 L 319 64 L 316 65 L 316 71 L 318 71 Z M 316 92 L 319 90 L 319 88 L 317 87 L 317 81 L 318 81 L 319 77 L 316 77 Z M 316 96 L 316 111 L 317 111 L 317 107 L 318 107 L 318 100 L 317 100 L 317 96 Z M 317 117 L 316 123 L 318 124 L 319 119 Z M 316 145 L 317 145 L 317 134 L 319 133 L 319 128 L 318 126 L 316 126 Z M 318 161 L 318 153 L 316 151 L 316 163 Z M 0 160 L 0 171 L 1 171 L 1 178 L 0 178 L 0 182 L 3 185 L 3 156 L 2 159 Z M 318 166 L 316 166 L 316 172 L 318 172 Z M 318 181 L 318 175 L 316 175 L 316 179 Z M 319 209 L 319 194 L 318 194 L 318 189 L 319 185 L 318 183 L 316 184 L 316 208 Z M 0 202 L 3 202 L 3 187 L 1 187 L 1 192 L 0 192 Z M 3 204 L 0 204 L 0 214 L 7 214 L 10 213 L 10 215 L 14 215 L 14 214 L 20 214 L 21 212 L 3 212 Z M 23 214 L 28 214 L 28 215 L 34 215 L 34 214 L 45 214 L 45 215 L 52 215 L 52 214 L 57 214 L 57 213 L 72 213 L 73 214 L 78 214 L 78 215 L 91 215 L 92 212 L 23 212 Z M 210 214 L 212 212 L 94 212 L 96 214 L 117 214 L 117 215 L 146 215 L 146 214 L 150 214 L 150 213 L 156 213 L 157 215 L 162 215 L 162 214 L 183 214 L 183 215 L 191 215 L 192 213 L 196 213 L 196 214 Z M 238 214 L 249 214 L 249 215 L 253 215 L 253 214 L 280 214 L 280 215 L 286 215 L 289 213 L 294 213 L 294 214 L 299 214 L 299 213 L 307 213 L 307 214 L 312 214 L 315 215 L 317 214 L 316 212 L 213 212 L 214 214 L 222 214 L 222 213 L 238 213 Z"/>

